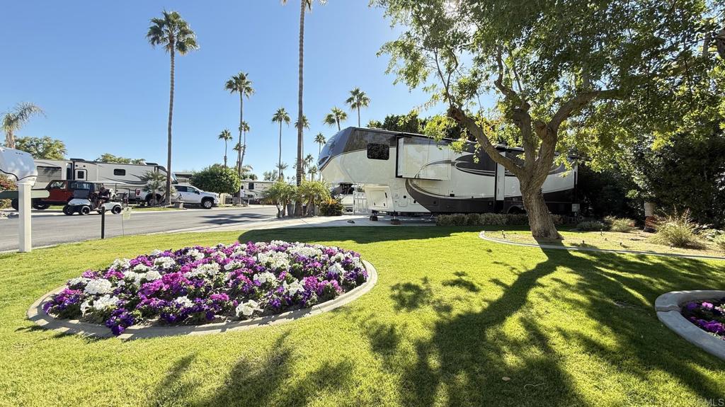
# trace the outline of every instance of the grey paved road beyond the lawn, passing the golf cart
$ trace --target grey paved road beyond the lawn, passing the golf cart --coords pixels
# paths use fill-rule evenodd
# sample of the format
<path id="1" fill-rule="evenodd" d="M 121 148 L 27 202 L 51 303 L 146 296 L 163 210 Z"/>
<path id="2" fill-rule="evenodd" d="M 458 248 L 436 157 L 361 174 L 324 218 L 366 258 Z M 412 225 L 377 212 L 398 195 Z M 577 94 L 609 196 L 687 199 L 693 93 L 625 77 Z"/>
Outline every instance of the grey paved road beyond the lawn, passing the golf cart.
<path id="1" fill-rule="evenodd" d="M 277 214 L 274 206 L 247 208 L 188 209 L 184 211 L 133 211 L 123 221 L 120 215 L 106 215 L 106 237 L 165 232 L 194 227 L 244 225 L 244 223 L 272 219 Z M 0 251 L 17 249 L 18 219 L 0 219 Z M 101 215 L 91 212 L 86 216 L 71 217 L 57 212 L 33 211 L 33 247 L 58 243 L 78 242 L 101 237 Z"/>

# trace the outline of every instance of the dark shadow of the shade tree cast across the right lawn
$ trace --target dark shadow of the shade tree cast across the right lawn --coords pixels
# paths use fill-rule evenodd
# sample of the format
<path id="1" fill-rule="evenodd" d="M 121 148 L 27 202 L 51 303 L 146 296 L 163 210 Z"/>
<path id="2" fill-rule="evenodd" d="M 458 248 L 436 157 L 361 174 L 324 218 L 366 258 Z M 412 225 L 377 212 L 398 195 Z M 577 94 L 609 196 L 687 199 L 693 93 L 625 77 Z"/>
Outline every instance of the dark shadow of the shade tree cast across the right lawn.
<path id="1" fill-rule="evenodd" d="M 694 259 L 621 256 L 614 253 L 583 253 L 544 250 L 545 261 L 518 273 L 515 282 L 502 285 L 503 294 L 481 311 L 439 314 L 432 334 L 414 343 L 415 362 L 400 366 L 394 349 L 401 335 L 395 324 L 368 319 L 368 340 L 384 366 L 404 368 L 399 389 L 406 406 L 558 406 L 584 405 L 587 400 L 569 376 L 571 366 L 552 346 L 552 335 L 560 335 L 595 355 L 600 363 L 613 366 L 637 379 L 649 380 L 651 370 L 666 372 L 702 399 L 721 394 L 722 386 L 703 371 L 718 372 L 721 361 L 682 340 L 658 322 L 653 309 L 655 298 L 670 290 L 722 288 L 722 269 Z M 544 277 L 565 267 L 576 274 L 571 284 L 560 279 L 548 281 L 568 285 L 557 295 L 601 326 L 602 338 L 585 337 L 576 327 L 547 327 L 528 311 L 528 296 Z M 696 269 L 697 275 L 680 269 Z M 613 272 L 612 270 L 617 270 Z M 458 276 L 463 279 L 464 276 Z M 455 280 L 454 280 L 455 281 Z M 399 293 L 391 297 L 397 306 L 431 303 L 434 290 L 424 285 L 403 283 L 405 292 L 416 293 L 415 301 Z M 471 291 L 465 283 L 447 284 Z M 537 290 L 535 295 L 542 295 Z M 421 293 L 421 295 L 418 295 Z M 423 295 L 429 295 L 425 298 Z M 581 298 L 585 298 L 581 300 Z M 402 301 L 401 301 L 402 300 Z M 622 306 L 625 304 L 626 306 Z M 526 312 L 519 312 L 524 311 Z M 518 314 L 517 314 L 518 313 Z M 519 336 L 506 335 L 503 325 L 510 318 L 523 327 Z M 372 327 L 373 329 L 369 329 Z M 616 346 L 605 345 L 615 340 Z M 393 350 L 392 350 L 393 349 Z M 629 401 L 642 393 L 626 395 Z M 650 394 L 651 396 L 651 394 Z M 637 400 L 635 400 L 637 399 Z M 591 402 L 591 400 L 589 400 Z"/>

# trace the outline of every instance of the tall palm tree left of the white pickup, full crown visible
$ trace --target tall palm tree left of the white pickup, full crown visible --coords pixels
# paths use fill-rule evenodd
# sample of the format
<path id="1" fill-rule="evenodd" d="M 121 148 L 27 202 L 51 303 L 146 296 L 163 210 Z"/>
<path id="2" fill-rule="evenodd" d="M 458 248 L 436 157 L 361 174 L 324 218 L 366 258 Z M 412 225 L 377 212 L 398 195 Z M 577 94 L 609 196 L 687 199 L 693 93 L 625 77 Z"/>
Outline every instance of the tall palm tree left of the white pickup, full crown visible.
<path id="1" fill-rule="evenodd" d="M 162 12 L 161 18 L 152 18 L 146 39 L 151 46 L 163 46 L 171 56 L 171 80 L 169 91 L 169 123 L 167 127 L 168 140 L 166 151 L 166 190 L 171 190 L 171 122 L 174 112 L 174 58 L 178 52 L 184 55 L 194 49 L 199 49 L 196 43 L 196 34 L 189 28 L 188 23 L 181 18 L 178 12 Z M 166 204 L 171 204 L 171 194 L 166 196 Z"/>

